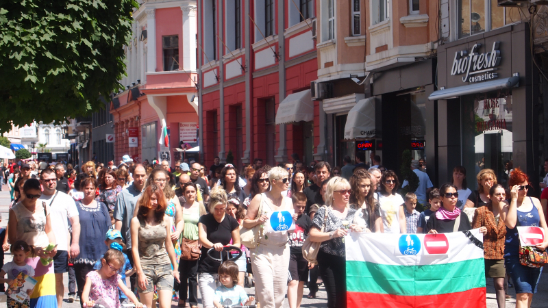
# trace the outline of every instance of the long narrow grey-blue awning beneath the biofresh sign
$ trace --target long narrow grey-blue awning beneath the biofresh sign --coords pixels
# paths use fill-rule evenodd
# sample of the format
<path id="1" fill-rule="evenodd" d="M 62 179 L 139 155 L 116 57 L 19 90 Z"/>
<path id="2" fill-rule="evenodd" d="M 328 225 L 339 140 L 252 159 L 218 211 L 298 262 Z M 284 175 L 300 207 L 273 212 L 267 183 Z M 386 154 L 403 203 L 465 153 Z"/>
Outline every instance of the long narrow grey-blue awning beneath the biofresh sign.
<path id="1" fill-rule="evenodd" d="M 451 99 L 453 97 L 460 97 L 467 94 L 483 93 L 493 90 L 512 88 L 514 86 L 518 86 L 518 81 L 519 76 L 512 76 L 510 78 L 496 79 L 491 81 L 479 82 L 477 84 L 469 84 L 466 86 L 437 90 L 430 94 L 428 100 L 437 101 L 438 99 Z"/>

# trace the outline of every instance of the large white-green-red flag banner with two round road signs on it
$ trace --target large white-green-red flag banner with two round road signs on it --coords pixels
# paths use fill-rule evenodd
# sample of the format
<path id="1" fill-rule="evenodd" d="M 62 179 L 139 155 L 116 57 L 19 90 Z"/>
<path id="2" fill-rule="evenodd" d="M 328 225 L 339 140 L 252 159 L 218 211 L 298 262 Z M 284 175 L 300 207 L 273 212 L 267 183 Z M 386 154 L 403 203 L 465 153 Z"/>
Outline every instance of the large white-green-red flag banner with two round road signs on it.
<path id="1" fill-rule="evenodd" d="M 486 307 L 482 234 L 350 233 L 348 307 Z"/>

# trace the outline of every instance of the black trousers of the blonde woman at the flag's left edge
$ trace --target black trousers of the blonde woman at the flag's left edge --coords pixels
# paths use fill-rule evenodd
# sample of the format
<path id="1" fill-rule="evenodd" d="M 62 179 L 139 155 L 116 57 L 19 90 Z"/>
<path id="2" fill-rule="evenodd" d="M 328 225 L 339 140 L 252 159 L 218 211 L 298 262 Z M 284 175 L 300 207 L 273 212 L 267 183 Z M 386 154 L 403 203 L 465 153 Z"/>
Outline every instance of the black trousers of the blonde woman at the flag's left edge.
<path id="1" fill-rule="evenodd" d="M 347 307 L 347 265 L 345 257 L 318 252 L 321 279 L 327 292 L 327 307 Z"/>

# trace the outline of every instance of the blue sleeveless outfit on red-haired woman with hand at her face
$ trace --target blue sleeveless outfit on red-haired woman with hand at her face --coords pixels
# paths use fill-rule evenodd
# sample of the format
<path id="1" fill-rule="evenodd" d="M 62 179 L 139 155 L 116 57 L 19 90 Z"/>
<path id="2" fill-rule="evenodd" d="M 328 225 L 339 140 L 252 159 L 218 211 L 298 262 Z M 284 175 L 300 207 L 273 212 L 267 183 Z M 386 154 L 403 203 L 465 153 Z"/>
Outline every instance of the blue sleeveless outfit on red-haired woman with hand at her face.
<path id="1" fill-rule="evenodd" d="M 529 197 L 531 203 L 533 200 Z M 533 203 L 533 208 L 530 211 L 517 211 L 517 223 L 514 229 L 506 227 L 506 241 L 504 242 L 504 264 L 506 271 L 510 274 L 516 294 L 519 293 L 536 293 L 536 286 L 540 279 L 542 268 L 530 268 L 522 266 L 519 261 L 519 235 L 517 227 L 540 227 L 540 215 L 538 209 Z"/>

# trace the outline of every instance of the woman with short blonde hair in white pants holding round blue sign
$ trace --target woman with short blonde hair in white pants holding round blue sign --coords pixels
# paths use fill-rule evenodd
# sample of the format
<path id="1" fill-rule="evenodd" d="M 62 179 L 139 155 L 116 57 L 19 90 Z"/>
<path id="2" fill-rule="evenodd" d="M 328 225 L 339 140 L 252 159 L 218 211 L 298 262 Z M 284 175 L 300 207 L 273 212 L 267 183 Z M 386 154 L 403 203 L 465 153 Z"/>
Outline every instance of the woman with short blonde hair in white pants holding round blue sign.
<path id="1" fill-rule="evenodd" d="M 269 171 L 271 191 L 253 197 L 244 220 L 244 227 L 251 229 L 267 222 L 269 212 L 293 209 L 291 198 L 282 196 L 288 190 L 289 173 L 281 167 Z M 259 208 L 262 203 L 262 210 Z M 274 217 L 277 216 L 272 216 Z M 297 220 L 293 214 L 292 220 Z M 291 221 L 286 222 L 290 226 Z M 266 228 L 264 228 L 266 230 Z M 282 307 L 287 293 L 289 246 L 287 231 L 262 233 L 256 248 L 251 253 L 251 268 L 255 277 L 255 295 L 261 308 Z"/>

